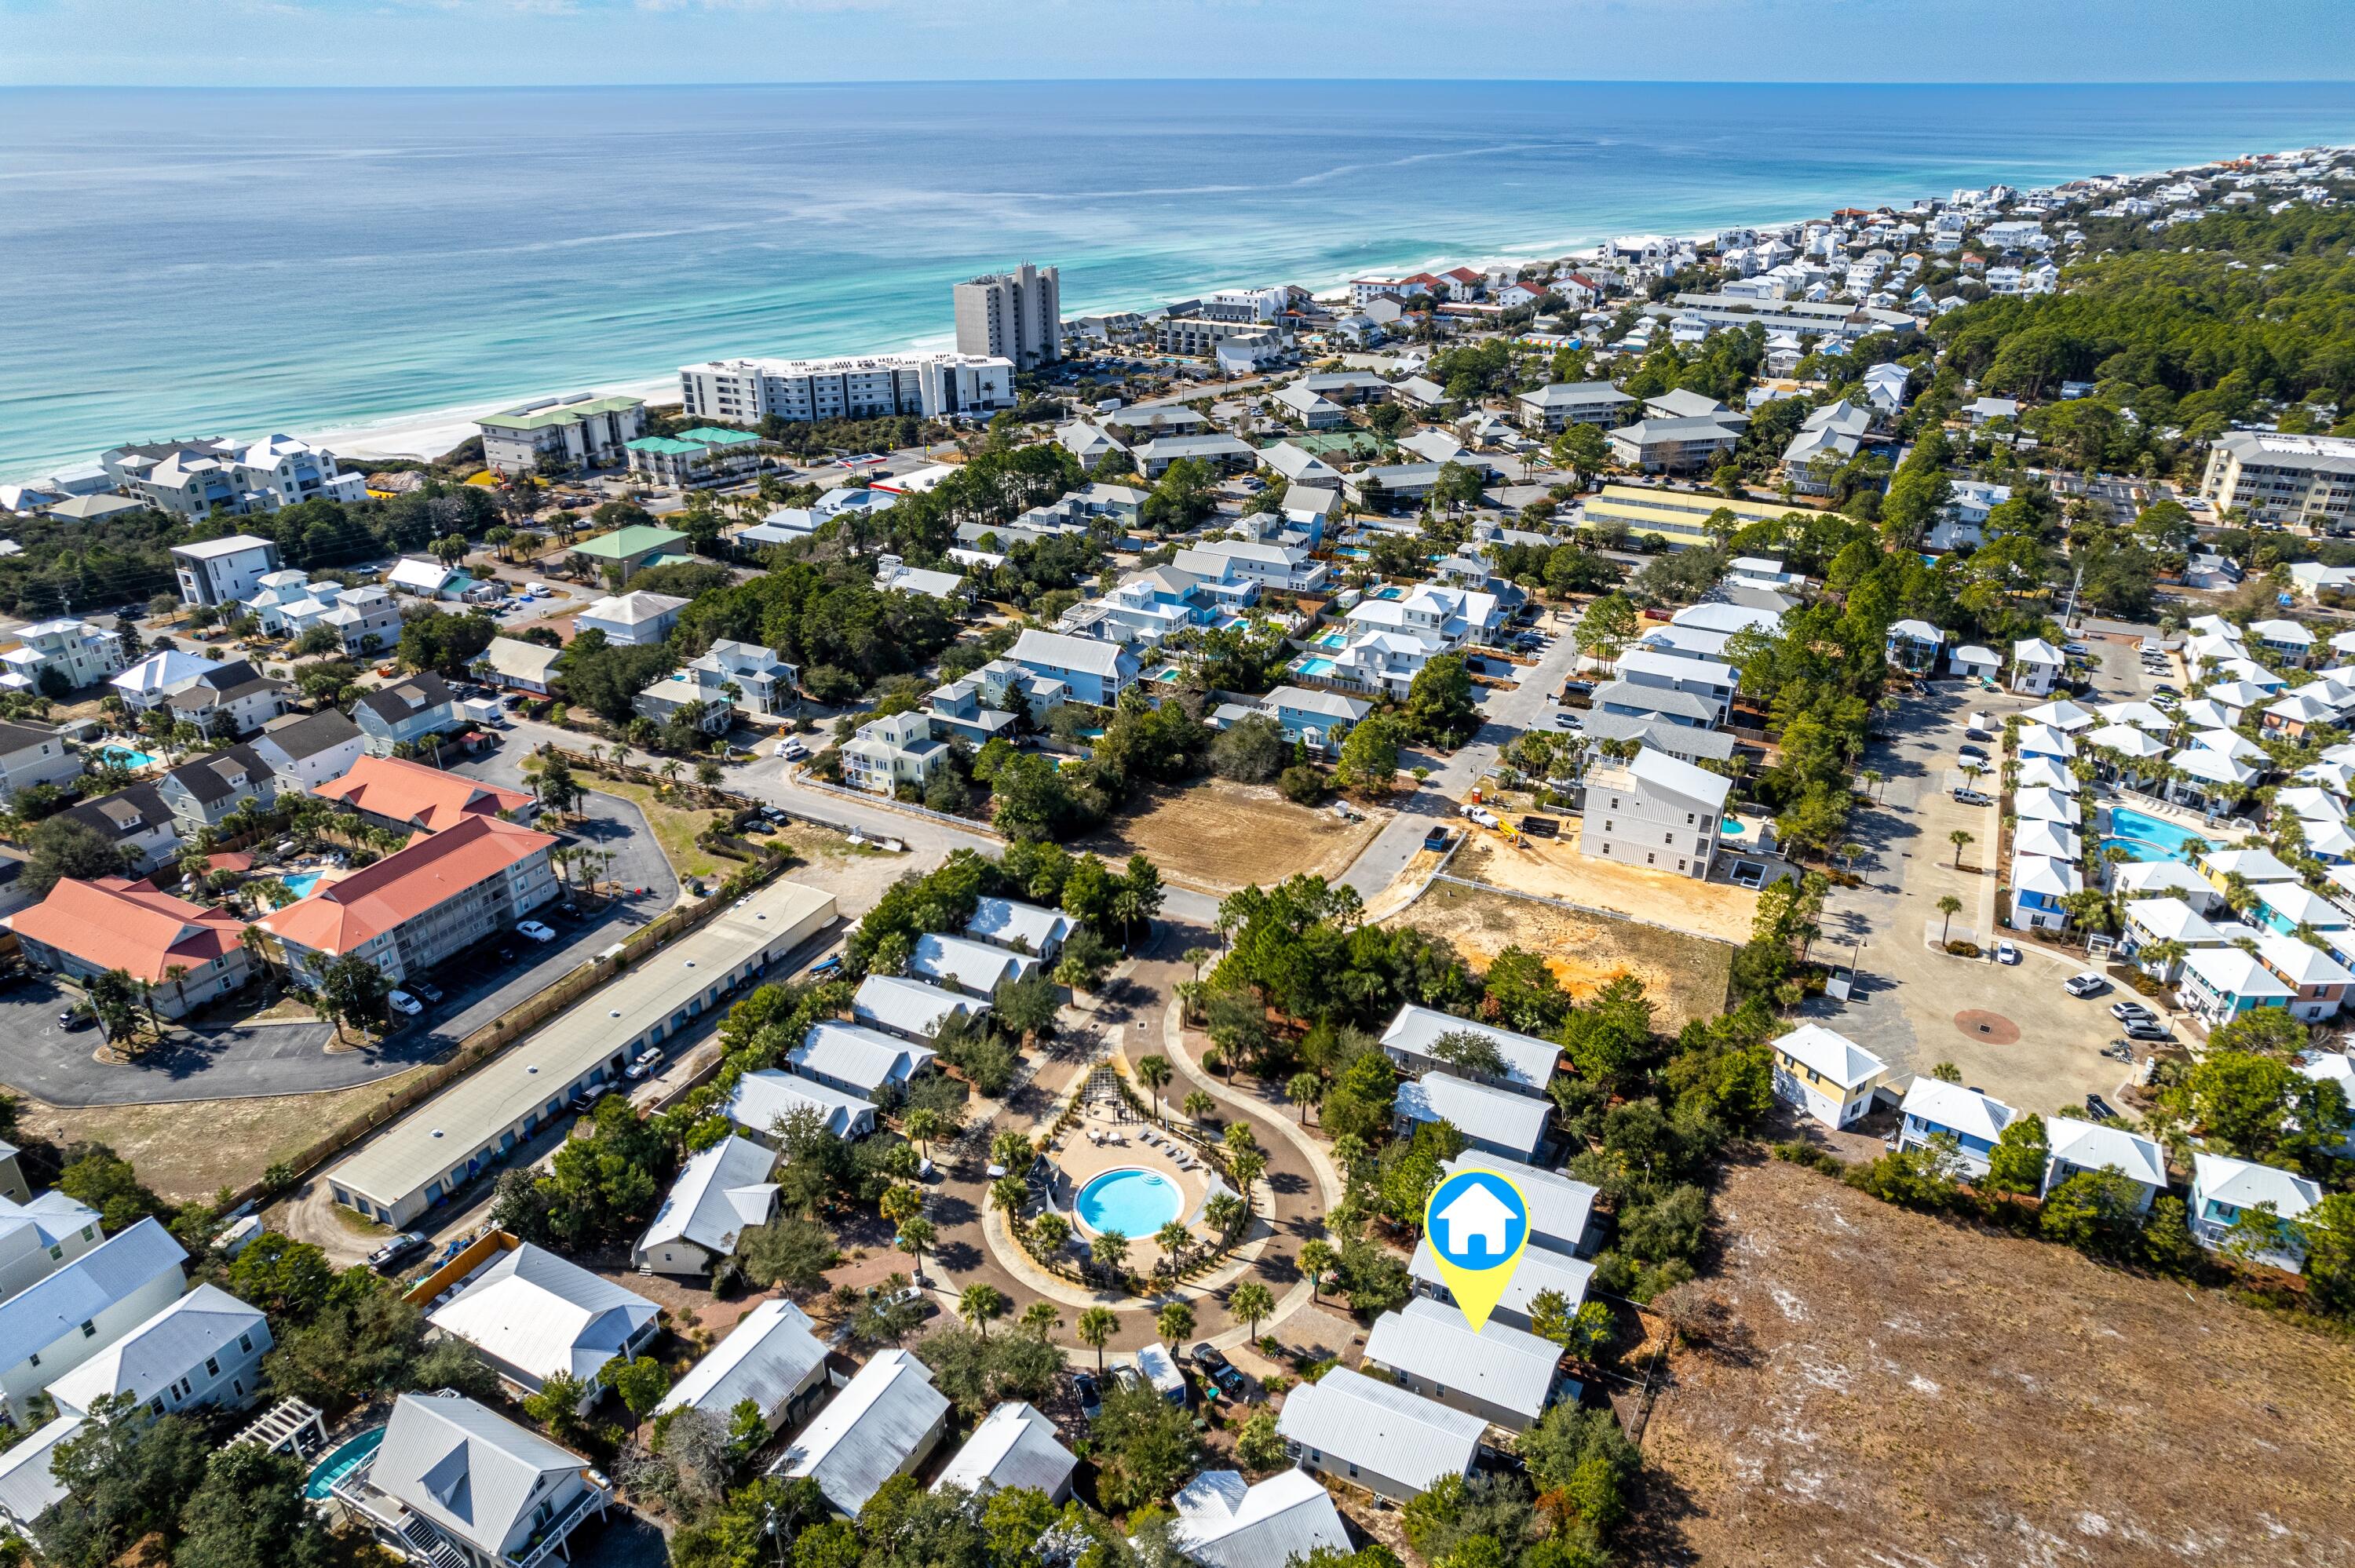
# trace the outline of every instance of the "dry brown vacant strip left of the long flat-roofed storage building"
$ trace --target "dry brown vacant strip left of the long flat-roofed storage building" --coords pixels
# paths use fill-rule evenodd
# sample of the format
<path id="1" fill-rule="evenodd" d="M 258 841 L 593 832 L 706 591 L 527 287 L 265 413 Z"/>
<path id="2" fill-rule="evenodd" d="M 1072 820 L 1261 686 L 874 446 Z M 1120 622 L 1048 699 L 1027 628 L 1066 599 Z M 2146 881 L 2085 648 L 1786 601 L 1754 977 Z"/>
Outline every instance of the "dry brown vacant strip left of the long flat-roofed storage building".
<path id="1" fill-rule="evenodd" d="M 412 1069 L 426 1071 L 426 1069 Z M 407 1085 L 412 1074 L 323 1095 L 210 1099 L 205 1104 L 101 1104 L 61 1109 L 24 1102 L 24 1125 L 64 1147 L 101 1142 L 139 1168 L 165 1198 L 210 1198 L 221 1187 L 259 1180 L 271 1161 L 292 1156 L 346 1116 Z"/>

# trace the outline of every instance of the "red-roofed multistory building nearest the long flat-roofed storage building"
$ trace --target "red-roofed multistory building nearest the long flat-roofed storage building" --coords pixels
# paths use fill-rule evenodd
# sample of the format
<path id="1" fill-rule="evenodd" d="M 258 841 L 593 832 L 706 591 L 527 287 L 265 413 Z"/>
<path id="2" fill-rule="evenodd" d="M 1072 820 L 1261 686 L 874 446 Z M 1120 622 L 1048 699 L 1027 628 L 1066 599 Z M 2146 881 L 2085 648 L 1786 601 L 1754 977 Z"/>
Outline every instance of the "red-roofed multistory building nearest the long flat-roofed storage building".
<path id="1" fill-rule="evenodd" d="M 462 815 L 455 826 L 419 833 L 344 881 L 273 909 L 259 925 L 285 949 L 297 984 L 346 954 L 400 982 L 553 899 L 551 848 L 553 833 Z"/>

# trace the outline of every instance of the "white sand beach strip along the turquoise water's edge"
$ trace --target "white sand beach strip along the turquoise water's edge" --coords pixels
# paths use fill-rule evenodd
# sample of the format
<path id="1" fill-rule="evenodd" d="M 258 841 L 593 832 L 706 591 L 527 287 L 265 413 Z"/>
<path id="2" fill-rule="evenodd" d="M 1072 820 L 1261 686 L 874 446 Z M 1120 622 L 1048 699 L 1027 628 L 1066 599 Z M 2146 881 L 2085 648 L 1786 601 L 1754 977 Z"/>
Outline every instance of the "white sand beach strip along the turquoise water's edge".
<path id="1" fill-rule="evenodd" d="M 2336 146 L 2336 144 L 2315 144 L 2315 146 Z M 2289 148 L 2273 148 L 2273 151 L 2289 151 Z M 2181 170 L 2207 167 L 2207 165 L 2221 162 L 2225 158 L 2235 158 L 2235 153 L 2225 153 L 2225 155 L 2216 155 L 2216 158 L 2207 158 L 2207 160 L 2197 160 L 2197 162 L 2164 165 L 2164 167 L 2141 170 L 2141 172 L 2049 177 L 2049 184 L 2070 184 L 2072 179 L 2108 179 L 2108 177 L 2117 177 L 2117 179 L 2155 179 L 2155 177 L 2164 177 L 2164 174 L 2176 174 Z M 1985 170 L 1981 170 L 1978 174 L 1985 174 Z M 1957 177 L 1959 174 L 1950 174 L 1948 179 L 1957 179 Z M 2004 177 L 1988 177 L 1988 184 L 2014 184 L 2014 179 L 2021 179 L 2021 177 L 2009 177 L 2009 179 L 2004 179 Z M 1973 188 L 1985 188 L 1985 186 L 1973 186 Z M 1922 195 L 1924 193 L 1917 193 L 1912 198 L 1886 198 L 1886 200 L 1879 200 L 1879 202 L 1872 202 L 1872 205 L 1875 207 L 1896 207 L 1896 205 L 1908 202 L 1908 200 L 1922 200 Z M 1858 205 L 1858 202 L 1868 202 L 1868 200 L 1870 198 L 1844 198 L 1837 205 Z M 1830 210 L 1820 210 L 1818 212 L 1813 205 L 1809 205 L 1804 212 L 1799 212 L 1799 202 L 1792 202 L 1785 210 L 1783 217 L 1726 219 L 1726 221 L 1712 224 L 1705 231 L 1681 231 L 1679 233 L 1674 228 L 1620 226 L 1620 228 L 1613 228 L 1611 233 L 1663 233 L 1663 235 L 1667 235 L 1672 240 L 1700 242 L 1700 240 L 1712 240 L 1724 228 L 1778 228 L 1778 226 L 1785 226 L 1785 224 L 1811 221 L 1813 217 L 1827 217 L 1827 212 Z M 1338 273 L 1333 273 L 1328 278 L 1319 278 L 1314 283 L 1305 283 L 1302 287 L 1312 290 L 1314 294 L 1331 294 L 1333 290 L 1347 287 L 1347 283 L 1352 278 L 1366 275 L 1368 271 L 1408 273 L 1411 275 L 1411 273 L 1418 273 L 1418 271 L 1441 271 L 1441 268 L 1448 268 L 1448 266 L 1470 266 L 1470 268 L 1479 271 L 1479 268 L 1486 268 L 1486 266 L 1524 266 L 1524 264 L 1531 264 L 1531 261 L 1561 261 L 1566 257 L 1575 257 L 1578 252 L 1594 250 L 1597 245 L 1606 242 L 1608 238 L 1611 235 L 1580 233 L 1580 235 L 1573 235 L 1573 238 L 1566 238 L 1566 240 L 1559 240 L 1559 242 L 1507 245 L 1507 247 L 1500 247 L 1498 252 L 1491 252 L 1486 257 L 1474 257 L 1474 259 L 1465 259 L 1458 252 L 1441 252 L 1437 257 L 1425 257 L 1425 259 L 1418 259 L 1418 261 L 1399 261 L 1394 266 L 1382 266 L 1382 268 L 1366 268 L 1366 266 L 1361 266 L 1361 268 L 1338 271 Z M 1229 285 L 1208 285 L 1208 287 L 1246 287 L 1246 285 L 1229 283 Z M 1208 287 L 1203 292 L 1208 292 Z M 1161 299 L 1156 297 L 1152 304 L 1161 304 Z M 1121 301 L 1121 304 L 1088 301 L 1088 304 L 1081 304 L 1081 306 L 1069 306 L 1064 311 L 1064 315 L 1072 318 L 1072 315 L 1095 315 L 1095 313 L 1109 313 L 1109 311 L 1152 308 L 1152 304 L 1137 306 L 1137 304 L 1128 304 L 1128 301 Z M 902 339 L 900 344 L 867 344 L 867 346 L 857 346 L 857 348 L 810 351 L 810 353 L 791 353 L 791 356 L 756 356 L 756 358 L 836 358 L 836 356 L 860 356 L 860 353 L 923 353 L 923 351 L 937 351 L 937 348 L 949 348 L 949 346 L 954 346 L 954 334 L 933 332 L 933 334 L 921 334 L 921 337 Z M 332 421 L 332 424 L 330 421 L 306 424 L 306 421 L 292 419 L 292 421 L 287 421 L 280 428 L 285 428 L 287 433 L 292 433 L 292 436 L 297 436 L 301 440 L 309 440 L 313 445 L 327 447 L 339 459 L 351 459 L 353 466 L 365 466 L 370 459 L 379 459 L 379 461 L 382 459 L 433 461 L 433 459 L 443 457 L 445 452 L 450 452 L 452 447 L 457 447 L 464 440 L 469 440 L 471 436 L 476 436 L 476 419 L 480 419 L 483 414 L 492 414 L 492 412 L 499 412 L 504 407 L 516 407 L 520 403 L 539 403 L 539 400 L 551 400 L 551 398 L 568 398 L 568 396 L 575 396 L 575 393 L 631 396 L 631 398 L 645 398 L 648 403 L 666 403 L 666 400 L 671 400 L 671 398 L 678 396 L 678 370 L 671 367 L 664 374 L 638 374 L 638 377 L 631 377 L 631 374 L 624 372 L 624 374 L 615 374 L 615 377 L 605 377 L 605 379 L 593 379 L 593 381 L 575 384 L 575 386 L 563 386 L 563 388 L 553 388 L 553 391 L 544 388 L 544 391 L 530 391 L 530 393 L 506 393 L 506 396 L 497 396 L 497 398 L 487 398 L 487 396 L 485 398 L 469 398 L 464 403 L 447 403 L 447 405 L 431 407 L 431 410 L 396 412 L 396 414 L 379 414 L 379 417 L 360 417 L 360 419 L 344 419 L 344 421 Z M 217 431 L 205 431 L 205 433 L 217 433 Z M 261 436 L 268 436 L 268 433 L 276 433 L 276 431 L 261 431 L 261 428 L 257 428 L 257 431 L 247 431 L 247 433 L 243 433 L 238 438 L 240 440 L 259 440 Z M 87 464 L 87 461 L 94 461 L 94 459 L 97 459 L 97 452 L 89 452 L 87 457 L 80 457 L 80 459 L 49 461 L 49 464 L 42 464 L 40 469 L 28 469 L 24 473 L 12 476 L 12 483 L 40 480 L 47 473 L 54 473 L 59 469 L 80 466 L 80 464 Z"/>

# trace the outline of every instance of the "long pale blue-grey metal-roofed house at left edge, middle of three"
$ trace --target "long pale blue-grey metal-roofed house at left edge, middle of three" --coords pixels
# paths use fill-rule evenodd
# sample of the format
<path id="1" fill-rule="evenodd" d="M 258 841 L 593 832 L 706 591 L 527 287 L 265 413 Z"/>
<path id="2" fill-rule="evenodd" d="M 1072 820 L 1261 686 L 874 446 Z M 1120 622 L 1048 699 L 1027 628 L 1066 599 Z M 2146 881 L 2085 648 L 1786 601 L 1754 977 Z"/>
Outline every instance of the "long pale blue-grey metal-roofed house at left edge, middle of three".
<path id="1" fill-rule="evenodd" d="M 108 1236 L 0 1302 L 0 1401 L 19 1427 L 31 1398 L 179 1300 L 188 1253 L 153 1217 Z"/>

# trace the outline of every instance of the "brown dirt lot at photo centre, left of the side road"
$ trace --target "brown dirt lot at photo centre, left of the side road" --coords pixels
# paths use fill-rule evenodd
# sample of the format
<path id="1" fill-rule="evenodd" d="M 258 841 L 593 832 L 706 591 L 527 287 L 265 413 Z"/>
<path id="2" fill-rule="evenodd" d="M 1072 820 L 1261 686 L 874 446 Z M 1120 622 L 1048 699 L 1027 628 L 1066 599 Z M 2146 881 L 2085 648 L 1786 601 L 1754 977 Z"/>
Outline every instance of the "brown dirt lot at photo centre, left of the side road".
<path id="1" fill-rule="evenodd" d="M 1208 892 L 1262 888 L 1312 871 L 1338 878 L 1392 812 L 1368 810 L 1342 822 L 1328 810 L 1293 805 L 1265 784 L 1203 779 L 1137 796 L 1137 810 L 1072 845 L 1112 859 L 1147 855 L 1173 883 Z"/>

